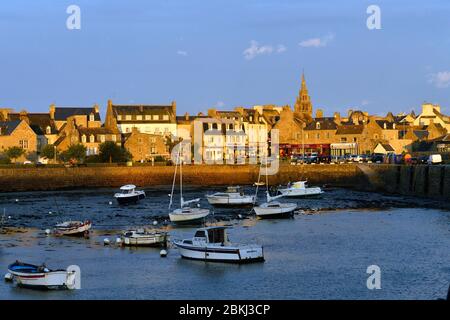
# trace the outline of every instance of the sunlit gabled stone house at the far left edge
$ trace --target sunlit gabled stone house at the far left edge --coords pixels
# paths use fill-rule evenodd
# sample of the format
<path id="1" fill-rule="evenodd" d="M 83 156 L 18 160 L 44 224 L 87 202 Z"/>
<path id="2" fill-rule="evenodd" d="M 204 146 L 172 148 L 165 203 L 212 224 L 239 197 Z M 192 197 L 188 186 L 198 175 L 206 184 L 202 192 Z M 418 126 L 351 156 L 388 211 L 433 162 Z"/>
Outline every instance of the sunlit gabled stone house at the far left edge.
<path id="1" fill-rule="evenodd" d="M 0 122 L 0 153 L 10 147 L 20 147 L 25 151 L 17 161 L 36 160 L 40 150 L 40 140 L 25 120 Z"/>

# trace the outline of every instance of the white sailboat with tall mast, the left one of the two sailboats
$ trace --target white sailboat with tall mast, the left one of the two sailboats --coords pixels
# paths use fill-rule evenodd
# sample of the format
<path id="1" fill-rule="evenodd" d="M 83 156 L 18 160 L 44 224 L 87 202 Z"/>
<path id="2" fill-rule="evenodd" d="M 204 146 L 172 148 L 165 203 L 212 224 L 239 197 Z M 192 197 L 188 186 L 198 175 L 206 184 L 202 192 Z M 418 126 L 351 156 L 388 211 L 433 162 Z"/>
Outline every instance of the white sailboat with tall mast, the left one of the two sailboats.
<path id="1" fill-rule="evenodd" d="M 200 198 L 185 201 L 183 198 L 183 160 L 181 159 L 181 150 L 178 151 L 178 159 L 175 163 L 175 173 L 173 175 L 172 192 L 170 194 L 169 210 L 172 207 L 173 193 L 175 189 L 175 182 L 177 176 L 177 166 L 180 166 L 180 208 L 175 209 L 169 213 L 170 221 L 174 223 L 195 223 L 201 222 L 203 219 L 209 215 L 209 209 L 201 208 Z M 192 206 L 192 204 L 197 204 L 197 206 Z"/>

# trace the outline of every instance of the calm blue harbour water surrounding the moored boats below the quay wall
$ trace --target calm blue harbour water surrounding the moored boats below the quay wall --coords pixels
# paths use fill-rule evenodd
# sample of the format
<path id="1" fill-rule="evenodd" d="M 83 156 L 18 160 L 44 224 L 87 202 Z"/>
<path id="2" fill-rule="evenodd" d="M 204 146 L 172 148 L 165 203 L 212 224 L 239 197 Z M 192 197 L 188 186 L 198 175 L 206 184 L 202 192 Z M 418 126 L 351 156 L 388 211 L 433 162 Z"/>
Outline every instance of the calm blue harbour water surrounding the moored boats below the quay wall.
<path id="1" fill-rule="evenodd" d="M 0 298 L 436 299 L 446 296 L 450 283 L 450 212 L 439 209 L 442 203 L 333 189 L 322 199 L 297 200 L 315 214 L 294 219 L 256 220 L 246 215 L 248 209 L 216 209 L 216 223 L 232 226 L 232 241 L 264 245 L 266 262 L 230 265 L 183 260 L 175 249 L 160 258 L 159 249 L 103 246 L 106 236 L 115 239 L 114 230 L 155 219 L 163 225 L 170 187 L 146 189 L 144 201 L 127 207 L 109 204 L 113 192 L 0 194 L 0 210 L 11 216 L 8 224 L 27 227 L 0 235 L 2 273 L 16 259 L 54 268 L 77 264 L 82 270 L 81 290 L 40 292 L 1 282 Z M 188 188 L 186 198 L 205 192 Z M 91 238 L 43 234 L 70 218 L 91 219 Z M 167 228 L 172 239 L 194 231 Z M 381 290 L 366 287 L 372 264 L 381 268 Z"/>

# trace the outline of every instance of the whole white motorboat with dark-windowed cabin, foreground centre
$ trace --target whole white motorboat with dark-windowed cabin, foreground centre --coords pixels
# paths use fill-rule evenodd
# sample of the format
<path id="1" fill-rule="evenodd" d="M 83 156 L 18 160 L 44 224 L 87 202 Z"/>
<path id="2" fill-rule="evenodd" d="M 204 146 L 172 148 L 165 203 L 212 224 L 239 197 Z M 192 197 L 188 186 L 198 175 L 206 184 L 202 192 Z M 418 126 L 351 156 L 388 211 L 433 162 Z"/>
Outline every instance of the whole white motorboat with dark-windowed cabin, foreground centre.
<path id="1" fill-rule="evenodd" d="M 230 243 L 226 227 L 201 228 L 192 239 L 174 241 L 174 244 L 186 259 L 233 263 L 264 261 L 262 246 Z"/>

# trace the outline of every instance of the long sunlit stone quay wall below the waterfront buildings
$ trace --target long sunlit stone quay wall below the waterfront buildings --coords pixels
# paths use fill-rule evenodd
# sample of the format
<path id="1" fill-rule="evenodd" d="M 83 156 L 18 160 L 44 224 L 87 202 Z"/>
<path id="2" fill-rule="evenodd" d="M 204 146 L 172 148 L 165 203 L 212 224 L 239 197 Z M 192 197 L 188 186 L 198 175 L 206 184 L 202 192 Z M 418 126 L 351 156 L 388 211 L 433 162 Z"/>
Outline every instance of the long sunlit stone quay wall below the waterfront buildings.
<path id="1" fill-rule="evenodd" d="M 0 192 L 61 190 L 76 188 L 139 187 L 170 185 L 173 166 L 136 167 L 39 167 L 0 168 Z M 262 170 L 263 172 L 264 170 Z M 256 165 L 187 165 L 183 166 L 186 185 L 245 185 L 258 180 Z M 177 176 L 177 180 L 179 175 Z M 450 200 L 450 165 L 281 164 L 269 184 L 308 180 L 310 185 L 347 187 L 435 199 Z M 265 177 L 261 176 L 261 181 Z"/>

